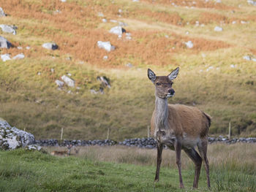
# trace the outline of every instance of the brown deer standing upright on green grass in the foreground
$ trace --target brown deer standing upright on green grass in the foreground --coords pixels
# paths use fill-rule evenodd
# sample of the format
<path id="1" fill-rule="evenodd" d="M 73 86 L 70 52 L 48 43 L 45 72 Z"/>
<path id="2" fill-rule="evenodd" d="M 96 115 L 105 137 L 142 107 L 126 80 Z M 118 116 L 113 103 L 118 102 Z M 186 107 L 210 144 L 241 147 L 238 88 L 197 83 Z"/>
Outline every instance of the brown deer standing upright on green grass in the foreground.
<path id="1" fill-rule="evenodd" d="M 207 158 L 208 129 L 211 126 L 211 116 L 183 104 L 168 104 L 167 98 L 173 97 L 173 80 L 178 76 L 179 67 L 167 76 L 156 76 L 148 69 L 148 79 L 155 86 L 155 107 L 151 118 L 151 134 L 157 140 L 157 171 L 154 182 L 159 181 L 159 170 L 162 162 L 162 150 L 167 146 L 175 150 L 178 166 L 179 185 L 184 188 L 181 176 L 181 150 L 195 164 L 193 188 L 197 188 L 202 161 L 206 170 L 207 185 L 211 188 L 209 164 Z M 197 150 L 195 150 L 197 147 Z"/>

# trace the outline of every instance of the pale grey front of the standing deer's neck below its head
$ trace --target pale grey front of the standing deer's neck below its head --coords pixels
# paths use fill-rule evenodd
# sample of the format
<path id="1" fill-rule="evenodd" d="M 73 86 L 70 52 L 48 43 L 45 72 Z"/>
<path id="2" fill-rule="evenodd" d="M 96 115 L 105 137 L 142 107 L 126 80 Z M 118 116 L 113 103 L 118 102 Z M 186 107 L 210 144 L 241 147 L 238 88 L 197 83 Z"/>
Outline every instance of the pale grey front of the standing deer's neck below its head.
<path id="1" fill-rule="evenodd" d="M 168 104 L 167 98 L 159 98 L 156 96 L 155 103 L 155 123 L 158 130 L 167 128 L 168 120 Z"/>

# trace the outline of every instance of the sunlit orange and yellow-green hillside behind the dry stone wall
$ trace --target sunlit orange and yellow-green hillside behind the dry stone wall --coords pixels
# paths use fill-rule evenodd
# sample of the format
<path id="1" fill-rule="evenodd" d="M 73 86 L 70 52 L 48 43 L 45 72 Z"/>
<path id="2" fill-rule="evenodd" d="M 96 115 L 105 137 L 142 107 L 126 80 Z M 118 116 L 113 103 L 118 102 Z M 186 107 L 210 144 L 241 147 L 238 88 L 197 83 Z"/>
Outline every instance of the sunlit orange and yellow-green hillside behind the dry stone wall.
<path id="1" fill-rule="evenodd" d="M 146 72 L 180 66 L 170 103 L 194 105 L 213 118 L 210 134 L 256 136 L 256 7 L 222 0 L 0 0 L 1 31 L 13 45 L 0 54 L 0 117 L 36 139 L 146 137 L 154 87 Z M 111 28 L 121 25 L 118 37 Z M 222 31 L 214 30 L 216 27 Z M 99 48 L 110 42 L 115 50 Z M 192 47 L 188 47 L 192 42 Z M 42 47 L 55 42 L 57 50 Z M 191 45 L 191 43 L 190 43 Z M 22 49 L 20 48 L 22 47 Z M 71 75 L 75 87 L 58 88 Z M 104 87 L 98 76 L 110 80 Z M 69 76 L 68 76 L 69 77 Z M 96 93 L 104 88 L 104 94 Z"/>

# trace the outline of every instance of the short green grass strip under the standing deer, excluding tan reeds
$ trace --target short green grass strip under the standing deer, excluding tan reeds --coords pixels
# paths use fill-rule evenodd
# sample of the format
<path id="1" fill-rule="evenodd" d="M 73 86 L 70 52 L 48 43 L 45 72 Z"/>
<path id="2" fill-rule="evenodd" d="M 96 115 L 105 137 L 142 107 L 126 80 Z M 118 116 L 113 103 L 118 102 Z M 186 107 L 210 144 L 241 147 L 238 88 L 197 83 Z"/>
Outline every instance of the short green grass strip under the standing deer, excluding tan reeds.
<path id="1" fill-rule="evenodd" d="M 178 171 L 162 167 L 154 184 L 155 166 L 55 157 L 23 149 L 0 151 L 0 191 L 192 191 L 194 170 L 183 169 L 185 190 L 178 188 Z M 211 170 L 212 191 L 255 191 L 255 173 L 229 166 Z M 208 191 L 206 174 L 197 191 Z"/>

